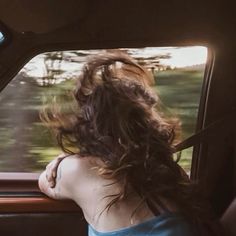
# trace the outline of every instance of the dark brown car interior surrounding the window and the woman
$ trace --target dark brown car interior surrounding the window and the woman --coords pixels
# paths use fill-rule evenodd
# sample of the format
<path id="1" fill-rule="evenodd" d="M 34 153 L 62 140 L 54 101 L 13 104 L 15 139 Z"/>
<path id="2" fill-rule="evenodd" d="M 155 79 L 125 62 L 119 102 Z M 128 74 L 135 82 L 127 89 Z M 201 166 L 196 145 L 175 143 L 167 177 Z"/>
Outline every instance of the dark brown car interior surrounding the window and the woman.
<path id="1" fill-rule="evenodd" d="M 199 183 L 225 235 L 233 236 L 235 25 L 233 1 L 0 0 L 0 91 L 4 92 L 26 63 L 45 52 L 206 47 L 195 132 L 179 149 L 193 146 L 190 178 Z M 79 207 L 43 195 L 37 185 L 38 176 L 0 172 L 0 234 L 86 235 Z"/>

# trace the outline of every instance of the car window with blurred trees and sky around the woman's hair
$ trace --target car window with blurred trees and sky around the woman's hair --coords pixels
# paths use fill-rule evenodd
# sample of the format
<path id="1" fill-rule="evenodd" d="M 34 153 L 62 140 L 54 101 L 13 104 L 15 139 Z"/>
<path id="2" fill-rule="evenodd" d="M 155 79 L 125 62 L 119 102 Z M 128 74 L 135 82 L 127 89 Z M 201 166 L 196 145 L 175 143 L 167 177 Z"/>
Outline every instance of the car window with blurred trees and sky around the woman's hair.
<path id="1" fill-rule="evenodd" d="M 195 131 L 207 49 L 165 47 L 122 49 L 154 75 L 167 116 L 182 123 L 182 139 Z M 48 52 L 29 61 L 0 94 L 0 171 L 38 172 L 60 153 L 40 122 L 43 103 L 73 89 L 87 55 L 101 50 Z M 188 171 L 192 150 L 182 153 Z"/>

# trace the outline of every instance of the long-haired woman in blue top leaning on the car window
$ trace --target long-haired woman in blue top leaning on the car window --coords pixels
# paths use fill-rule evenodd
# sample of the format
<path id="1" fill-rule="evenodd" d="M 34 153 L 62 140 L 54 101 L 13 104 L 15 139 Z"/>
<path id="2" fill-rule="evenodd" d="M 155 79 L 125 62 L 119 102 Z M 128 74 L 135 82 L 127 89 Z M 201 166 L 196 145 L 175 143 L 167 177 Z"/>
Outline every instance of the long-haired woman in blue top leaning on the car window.
<path id="1" fill-rule="evenodd" d="M 162 117 L 151 81 L 124 53 L 94 56 L 72 109 L 41 114 L 64 154 L 42 173 L 40 189 L 74 200 L 90 236 L 201 235 L 205 212 L 173 159 L 178 125 Z"/>

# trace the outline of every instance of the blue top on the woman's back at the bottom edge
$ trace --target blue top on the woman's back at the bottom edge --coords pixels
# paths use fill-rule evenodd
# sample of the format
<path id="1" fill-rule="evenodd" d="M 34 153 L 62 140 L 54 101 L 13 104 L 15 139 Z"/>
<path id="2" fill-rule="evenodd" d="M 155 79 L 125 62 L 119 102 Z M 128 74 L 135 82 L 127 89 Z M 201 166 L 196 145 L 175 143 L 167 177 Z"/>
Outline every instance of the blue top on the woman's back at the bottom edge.
<path id="1" fill-rule="evenodd" d="M 90 225 L 89 236 L 194 236 L 193 226 L 183 216 L 175 213 L 164 213 L 140 224 L 115 230 L 98 232 Z"/>

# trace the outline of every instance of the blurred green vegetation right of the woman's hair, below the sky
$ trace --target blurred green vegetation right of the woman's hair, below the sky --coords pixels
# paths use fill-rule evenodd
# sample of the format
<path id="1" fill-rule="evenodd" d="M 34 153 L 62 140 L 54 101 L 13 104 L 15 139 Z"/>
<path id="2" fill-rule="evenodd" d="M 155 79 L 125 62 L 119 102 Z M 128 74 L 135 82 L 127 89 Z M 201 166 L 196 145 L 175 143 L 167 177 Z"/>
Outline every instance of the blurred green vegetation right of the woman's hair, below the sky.
<path id="1" fill-rule="evenodd" d="M 195 132 L 198 106 L 204 70 L 175 69 L 159 72 L 156 75 L 155 89 L 160 96 L 167 116 L 176 117 L 181 123 L 181 139 Z M 181 153 L 180 165 L 190 171 L 192 148 Z"/>

